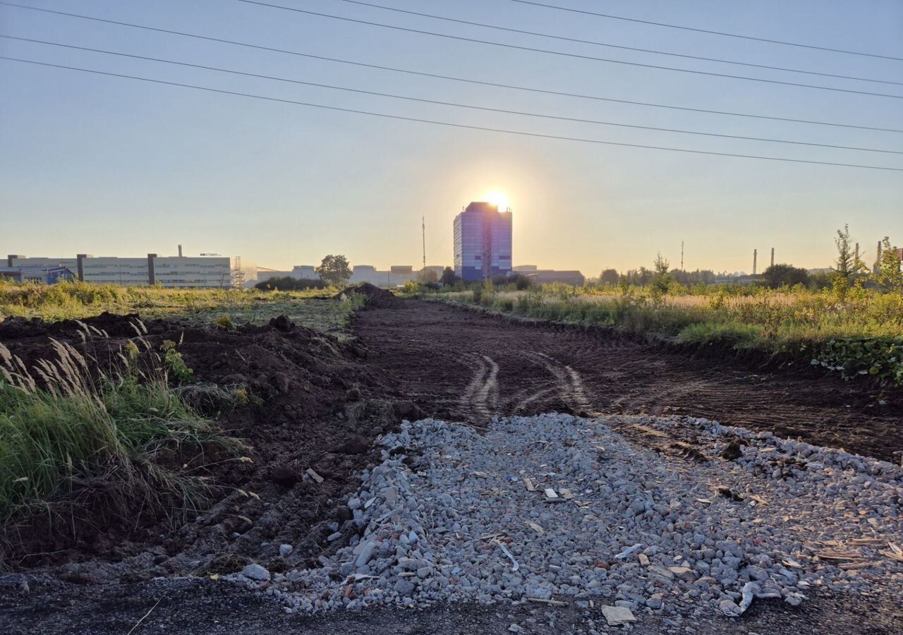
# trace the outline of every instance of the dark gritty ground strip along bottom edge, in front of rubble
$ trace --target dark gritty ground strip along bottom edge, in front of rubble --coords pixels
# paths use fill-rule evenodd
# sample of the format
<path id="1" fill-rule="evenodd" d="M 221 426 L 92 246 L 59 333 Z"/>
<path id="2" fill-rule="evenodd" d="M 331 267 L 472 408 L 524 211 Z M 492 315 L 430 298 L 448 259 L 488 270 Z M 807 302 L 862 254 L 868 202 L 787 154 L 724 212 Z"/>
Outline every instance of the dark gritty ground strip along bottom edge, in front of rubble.
<path id="1" fill-rule="evenodd" d="M 28 593 L 0 577 L 0 624 L 9 635 L 508 635 L 511 624 L 521 633 L 629 632 L 634 635 L 898 635 L 903 611 L 880 597 L 818 592 L 798 607 L 777 600 L 757 600 L 742 618 L 685 619 L 638 612 L 629 630 L 608 627 L 598 603 L 578 608 L 568 598 L 562 607 L 526 605 L 440 604 L 425 610 L 372 608 L 362 611 L 286 614 L 283 606 L 261 593 L 228 584 L 190 579 L 105 586 L 40 584 Z"/>

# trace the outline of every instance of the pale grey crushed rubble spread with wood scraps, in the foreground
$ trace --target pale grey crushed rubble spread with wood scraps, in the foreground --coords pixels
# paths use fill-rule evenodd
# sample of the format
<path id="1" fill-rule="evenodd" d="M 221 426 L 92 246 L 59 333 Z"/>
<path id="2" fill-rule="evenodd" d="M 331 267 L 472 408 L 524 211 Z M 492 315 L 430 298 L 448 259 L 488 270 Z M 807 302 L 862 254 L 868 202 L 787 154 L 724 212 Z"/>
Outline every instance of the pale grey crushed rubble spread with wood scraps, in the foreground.
<path id="1" fill-rule="evenodd" d="M 305 612 L 566 600 L 737 616 L 823 585 L 903 595 L 898 467 L 702 419 L 619 417 L 647 434 L 694 431 L 702 454 L 667 455 L 607 423 L 405 423 L 334 526 L 330 540 L 353 533 L 349 546 L 317 569 L 224 577 Z"/>

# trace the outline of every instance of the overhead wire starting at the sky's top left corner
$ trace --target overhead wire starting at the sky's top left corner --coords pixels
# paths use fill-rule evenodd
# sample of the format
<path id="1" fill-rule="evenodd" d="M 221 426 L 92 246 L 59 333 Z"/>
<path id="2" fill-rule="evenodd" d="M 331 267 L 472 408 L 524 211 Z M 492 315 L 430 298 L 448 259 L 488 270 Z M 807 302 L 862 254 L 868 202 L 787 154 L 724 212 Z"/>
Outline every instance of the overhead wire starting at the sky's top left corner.
<path id="1" fill-rule="evenodd" d="M 154 33 L 167 33 L 169 35 L 179 35 L 182 37 L 194 38 L 196 40 L 203 40 L 206 42 L 218 42 L 221 44 L 243 46 L 248 49 L 254 49 L 257 51 L 270 51 L 270 52 L 276 52 L 276 53 L 283 53 L 285 55 L 294 55 L 297 57 L 309 58 L 312 60 L 331 61 L 331 62 L 335 62 L 335 63 L 339 63 L 339 64 L 349 64 L 351 66 L 360 66 L 360 67 L 368 68 L 368 69 L 388 70 L 391 72 L 405 73 L 407 75 L 415 75 L 418 77 L 429 77 L 429 78 L 434 78 L 434 79 L 447 79 L 450 81 L 458 81 L 458 82 L 462 82 L 462 83 L 476 84 L 479 86 L 492 86 L 492 87 L 499 88 L 499 89 L 522 90 L 522 91 L 526 91 L 526 92 L 533 92 L 533 93 L 539 93 L 539 94 L 544 94 L 544 95 L 556 95 L 559 97 L 592 99 L 595 101 L 607 101 L 607 102 L 617 103 L 617 104 L 628 104 L 631 106 L 667 108 L 670 110 L 681 110 L 684 112 L 698 112 L 698 113 L 703 113 L 703 114 L 707 114 L 707 115 L 724 115 L 727 117 L 748 117 L 748 118 L 754 118 L 754 119 L 766 119 L 768 121 L 783 121 L 783 122 L 794 123 L 794 124 L 808 124 L 808 125 L 812 125 L 812 126 L 833 126 L 833 127 L 842 127 L 842 128 L 852 128 L 852 129 L 856 129 L 856 130 L 873 130 L 876 132 L 891 132 L 891 133 L 903 134 L 903 129 L 898 129 L 898 128 L 884 128 L 884 127 L 877 127 L 877 126 L 859 126 L 859 125 L 855 125 L 855 124 L 841 124 L 841 123 L 830 122 L 830 121 L 817 121 L 814 119 L 796 119 L 793 117 L 770 117 L 768 115 L 754 115 L 751 113 L 736 113 L 736 112 L 730 112 L 727 110 L 713 110 L 713 109 L 707 109 L 707 108 L 675 106 L 672 104 L 656 104 L 654 102 L 646 102 L 646 101 L 631 101 L 629 99 L 607 98 L 607 97 L 600 97 L 598 95 L 585 95 L 582 93 L 564 92 L 564 91 L 560 91 L 560 90 L 536 89 L 536 88 L 530 88 L 530 87 L 526 87 L 526 86 L 517 86 L 514 84 L 505 84 L 505 83 L 499 83 L 499 82 L 493 82 L 493 81 L 482 81 L 479 79 L 460 78 L 460 77 L 454 77 L 452 75 L 440 75 L 438 73 L 429 73 L 429 72 L 424 72 L 424 71 L 420 71 L 420 70 L 399 69 L 399 68 L 395 68 L 392 66 L 380 66 L 378 64 L 369 64 L 369 63 L 361 62 L 361 61 L 342 60 L 340 58 L 326 57 L 324 55 L 314 55 L 312 53 L 304 53 L 301 51 L 289 51 L 287 49 L 279 49 L 279 48 L 275 48 L 272 46 L 263 46 L 260 44 L 252 44 L 250 42 L 238 42 L 236 40 L 227 40 L 224 38 L 212 37 L 209 35 L 200 35 L 199 33 L 185 33 L 182 31 L 173 31 L 172 29 L 163 29 L 163 28 L 154 27 L 154 26 L 146 26 L 144 24 L 119 22 L 117 20 L 109 20 L 107 18 L 95 17 L 93 15 L 70 14 L 65 11 L 54 11 L 52 9 L 44 9 L 44 8 L 37 7 L 37 6 L 17 5 L 17 4 L 11 3 L 11 2 L 5 2 L 4 0 L 0 0 L 0 5 L 12 6 L 15 8 L 27 9 L 30 11 L 38 11 L 38 12 L 42 12 L 45 14 L 64 15 L 66 17 L 78 18 L 80 20 L 90 20 L 90 21 L 99 22 L 99 23 L 116 24 L 116 26 L 126 26 L 126 27 L 133 28 L 133 29 L 142 29 L 144 31 L 151 31 Z"/>

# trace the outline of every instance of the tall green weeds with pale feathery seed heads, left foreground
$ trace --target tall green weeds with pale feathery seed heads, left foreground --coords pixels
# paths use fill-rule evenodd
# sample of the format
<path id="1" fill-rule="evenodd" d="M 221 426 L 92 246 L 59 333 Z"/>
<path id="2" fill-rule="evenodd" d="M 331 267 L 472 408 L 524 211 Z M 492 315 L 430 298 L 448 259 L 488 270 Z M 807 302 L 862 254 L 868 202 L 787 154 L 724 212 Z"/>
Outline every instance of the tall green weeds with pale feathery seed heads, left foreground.
<path id="1" fill-rule="evenodd" d="M 182 470 L 184 457 L 241 449 L 182 403 L 143 337 L 118 350 L 112 368 L 92 372 L 98 360 L 88 350 L 97 337 L 84 329 L 86 352 L 51 340 L 55 359 L 32 369 L 0 344 L 4 523 L 40 511 L 74 535 L 79 523 L 136 515 L 182 522 L 210 488 L 202 473 Z"/>

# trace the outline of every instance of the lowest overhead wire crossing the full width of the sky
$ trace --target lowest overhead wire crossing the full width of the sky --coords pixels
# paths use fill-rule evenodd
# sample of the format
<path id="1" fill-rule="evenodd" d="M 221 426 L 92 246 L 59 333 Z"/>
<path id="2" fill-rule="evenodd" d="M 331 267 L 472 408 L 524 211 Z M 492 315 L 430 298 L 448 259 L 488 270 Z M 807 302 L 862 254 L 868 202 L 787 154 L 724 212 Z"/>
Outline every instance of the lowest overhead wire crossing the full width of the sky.
<path id="1" fill-rule="evenodd" d="M 80 72 L 92 73 L 95 75 L 104 75 L 107 77 L 115 77 L 120 79 L 136 79 L 139 81 L 146 81 L 154 84 L 163 84 L 165 86 L 177 86 L 183 89 L 197 89 L 197 90 L 206 90 L 208 92 L 219 93 L 222 95 L 233 95 L 236 97 L 247 97 L 253 99 L 263 99 L 265 101 L 274 101 L 282 104 L 290 104 L 293 106 L 303 106 L 303 107 L 313 107 L 313 108 L 322 108 L 324 110 L 335 110 L 338 112 L 345 113 L 354 113 L 357 115 L 367 115 L 368 117 L 383 117 L 386 119 L 396 119 L 398 121 L 411 121 L 421 124 L 431 124 L 433 126 L 447 126 L 453 128 L 462 128 L 467 130 L 479 130 L 481 132 L 495 132 L 501 133 L 505 135 L 521 135 L 521 136 L 531 136 L 539 139 L 557 139 L 561 141 L 574 141 L 585 144 L 595 144 L 595 145 L 616 145 L 619 147 L 630 147 L 630 148 L 643 148 L 646 150 L 664 150 L 667 152 L 679 152 L 685 154 L 707 154 L 710 156 L 731 156 L 742 159 L 760 159 L 764 161 L 781 161 L 787 163 L 808 163 L 812 165 L 833 165 L 837 167 L 849 167 L 849 168 L 862 168 L 865 170 L 884 170 L 888 172 L 903 172 L 903 168 L 895 168 L 884 165 L 864 165 L 859 163 L 837 163 L 830 161 L 813 161 L 809 159 L 790 159 L 787 157 L 779 157 L 779 156 L 763 156 L 759 154 L 736 154 L 736 153 L 726 153 L 726 152 L 712 152 L 709 150 L 693 150 L 689 148 L 675 148 L 668 147 L 663 145 L 642 145 L 642 144 L 627 144 L 621 143 L 617 141 L 603 141 L 601 139 L 590 139 L 585 137 L 576 137 L 576 136 L 561 136 L 561 135 L 545 135 L 542 133 L 535 132 L 527 132 L 525 130 L 507 130 L 504 128 L 494 128 L 488 126 L 470 126 L 469 124 L 455 124 L 449 121 L 439 121 L 435 119 L 422 119 L 419 117 L 405 117 L 402 115 L 389 115 L 387 113 L 379 113 L 373 112 L 370 110 L 358 110 L 356 108 L 345 108 L 339 106 L 326 106 L 325 104 L 314 104 L 305 101 L 296 101 L 293 99 L 283 99 L 283 98 L 275 98 L 275 97 L 265 97 L 263 95 L 255 95 L 253 93 L 244 93 L 238 92 L 236 90 L 224 90 L 224 89 L 212 89 L 207 86 L 196 86 L 194 84 L 183 84 L 177 81 L 168 81 L 165 79 L 151 79 L 146 77 L 139 77 L 137 75 L 126 75 L 124 73 L 113 73 L 108 72 L 106 70 L 93 70 L 93 69 L 82 69 L 75 66 L 66 66 L 63 64 L 51 64 L 47 61 L 36 61 L 36 60 L 24 60 L 23 58 L 15 58 L 9 57 L 6 55 L 0 55 L 0 60 L 7 61 L 17 61 L 23 62 L 26 64 L 35 64 L 38 66 L 46 66 L 55 69 L 63 69 L 63 70 L 78 70 Z"/>

